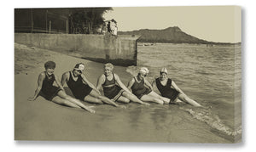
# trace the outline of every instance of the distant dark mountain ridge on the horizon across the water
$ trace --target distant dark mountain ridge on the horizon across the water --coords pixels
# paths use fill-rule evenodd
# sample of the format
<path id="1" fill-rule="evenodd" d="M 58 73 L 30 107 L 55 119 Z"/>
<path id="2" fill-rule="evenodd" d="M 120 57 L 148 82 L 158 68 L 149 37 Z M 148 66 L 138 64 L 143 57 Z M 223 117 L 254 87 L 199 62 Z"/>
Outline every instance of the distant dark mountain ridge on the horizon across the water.
<path id="1" fill-rule="evenodd" d="M 170 42 L 170 43 L 201 43 L 201 44 L 230 44 L 221 42 L 207 42 L 206 40 L 190 36 L 177 26 L 164 30 L 142 29 L 138 31 L 119 31 L 119 35 L 139 35 L 138 42 Z"/>

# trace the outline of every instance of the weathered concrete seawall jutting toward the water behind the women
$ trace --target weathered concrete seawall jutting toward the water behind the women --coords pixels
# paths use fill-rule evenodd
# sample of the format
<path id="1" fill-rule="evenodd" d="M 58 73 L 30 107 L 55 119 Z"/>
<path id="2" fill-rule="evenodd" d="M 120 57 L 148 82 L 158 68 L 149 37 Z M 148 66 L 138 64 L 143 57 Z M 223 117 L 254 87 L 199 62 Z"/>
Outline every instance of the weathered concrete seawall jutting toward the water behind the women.
<path id="1" fill-rule="evenodd" d="M 15 33 L 15 42 L 114 65 L 137 65 L 137 38 L 131 36 Z"/>

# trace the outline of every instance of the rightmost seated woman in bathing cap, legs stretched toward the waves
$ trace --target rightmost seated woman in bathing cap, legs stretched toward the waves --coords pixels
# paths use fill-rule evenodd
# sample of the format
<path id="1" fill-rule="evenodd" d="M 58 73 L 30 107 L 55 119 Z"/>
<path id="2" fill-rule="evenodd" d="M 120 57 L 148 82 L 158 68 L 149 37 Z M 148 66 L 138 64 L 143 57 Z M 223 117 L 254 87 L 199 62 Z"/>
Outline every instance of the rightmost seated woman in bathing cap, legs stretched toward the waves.
<path id="1" fill-rule="evenodd" d="M 183 101 L 192 104 L 196 107 L 201 107 L 201 104 L 198 104 L 193 99 L 189 99 L 189 97 L 185 93 L 183 93 L 183 91 L 180 88 L 177 87 L 175 82 L 173 82 L 172 79 L 167 77 L 167 74 L 167 69 L 162 68 L 160 70 L 160 77 L 156 78 L 154 82 L 152 82 L 152 86 L 154 86 L 155 84 L 163 97 L 171 99 L 171 103 L 174 104 Z"/>

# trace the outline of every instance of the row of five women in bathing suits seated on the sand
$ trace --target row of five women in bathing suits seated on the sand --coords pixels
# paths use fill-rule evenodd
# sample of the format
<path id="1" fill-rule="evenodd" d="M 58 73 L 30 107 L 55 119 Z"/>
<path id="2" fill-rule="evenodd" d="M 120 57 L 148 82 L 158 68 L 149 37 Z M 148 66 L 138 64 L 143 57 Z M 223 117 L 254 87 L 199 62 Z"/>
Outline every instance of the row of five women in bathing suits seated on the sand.
<path id="1" fill-rule="evenodd" d="M 35 100 L 38 95 L 42 95 L 56 104 L 82 108 L 91 113 L 95 113 L 95 110 L 91 106 L 82 104 L 81 101 L 93 104 L 112 104 L 120 108 L 125 108 L 125 105 L 117 104 L 117 102 L 126 104 L 136 102 L 145 105 L 150 105 L 148 103 L 179 104 L 185 102 L 197 107 L 201 106 L 195 100 L 189 99 L 175 82 L 167 77 L 166 68 L 162 68 L 160 76 L 150 84 L 146 79 L 148 68 L 143 67 L 137 76 L 131 79 L 127 87 L 121 82 L 119 76 L 113 73 L 113 65 L 110 63 L 104 65 L 104 73 L 99 76 L 96 87 L 84 76 L 85 67 L 82 63 L 75 65 L 73 70 L 65 72 L 61 76 L 61 81 L 54 75 L 55 62 L 46 62 L 44 68 L 45 71 L 38 76 L 38 87 L 35 94 L 29 100 Z M 57 87 L 53 85 L 54 82 Z M 65 93 L 63 88 L 65 83 L 72 91 L 74 98 Z M 154 92 L 154 85 L 160 94 Z M 104 95 L 101 94 L 100 89 L 103 89 Z"/>

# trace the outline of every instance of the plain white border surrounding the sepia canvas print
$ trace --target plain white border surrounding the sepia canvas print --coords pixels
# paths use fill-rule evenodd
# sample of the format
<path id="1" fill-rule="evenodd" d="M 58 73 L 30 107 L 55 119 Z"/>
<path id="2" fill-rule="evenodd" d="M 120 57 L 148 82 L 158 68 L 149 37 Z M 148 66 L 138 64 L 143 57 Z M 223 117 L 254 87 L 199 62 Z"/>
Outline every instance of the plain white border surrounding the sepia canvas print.
<path id="1" fill-rule="evenodd" d="M 145 144 L 145 143 L 84 143 L 84 142 L 16 142 L 14 141 L 14 8 L 42 7 L 119 7 L 119 6 L 198 6 L 198 5 L 239 5 L 242 8 L 242 76 L 243 76 L 243 142 L 241 144 Z M 62 0 L 32 1 L 9 0 L 1 8 L 1 150 L 12 151 L 253 151 L 255 134 L 254 101 L 255 93 L 255 14 L 256 7 L 251 0 Z M 254 49 L 253 49 L 254 48 Z"/>

